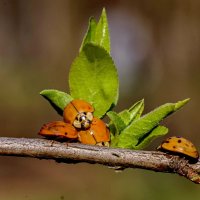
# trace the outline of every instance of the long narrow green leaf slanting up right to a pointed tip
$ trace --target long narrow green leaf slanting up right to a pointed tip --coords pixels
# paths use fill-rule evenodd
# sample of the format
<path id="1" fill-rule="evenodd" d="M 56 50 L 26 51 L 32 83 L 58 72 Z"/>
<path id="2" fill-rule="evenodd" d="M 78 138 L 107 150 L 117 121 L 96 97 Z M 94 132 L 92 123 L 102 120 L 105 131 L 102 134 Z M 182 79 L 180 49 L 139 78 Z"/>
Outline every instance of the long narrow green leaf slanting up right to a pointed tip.
<path id="1" fill-rule="evenodd" d="M 134 148 L 141 138 L 158 126 L 164 118 L 180 109 L 188 101 L 189 99 L 185 99 L 177 103 L 164 104 L 138 120 L 133 121 L 119 135 L 117 146 L 122 148 Z"/>

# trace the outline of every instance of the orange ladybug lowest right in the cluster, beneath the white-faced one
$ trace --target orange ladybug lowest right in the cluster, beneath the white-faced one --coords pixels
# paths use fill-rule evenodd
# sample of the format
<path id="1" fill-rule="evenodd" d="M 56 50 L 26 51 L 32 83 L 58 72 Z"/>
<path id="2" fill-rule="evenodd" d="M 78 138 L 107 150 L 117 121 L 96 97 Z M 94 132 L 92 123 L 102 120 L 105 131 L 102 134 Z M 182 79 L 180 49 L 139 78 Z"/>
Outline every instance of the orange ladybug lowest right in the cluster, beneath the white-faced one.
<path id="1" fill-rule="evenodd" d="M 78 132 L 78 140 L 83 144 L 109 146 L 110 131 L 101 119 L 94 117 L 89 129 Z"/>

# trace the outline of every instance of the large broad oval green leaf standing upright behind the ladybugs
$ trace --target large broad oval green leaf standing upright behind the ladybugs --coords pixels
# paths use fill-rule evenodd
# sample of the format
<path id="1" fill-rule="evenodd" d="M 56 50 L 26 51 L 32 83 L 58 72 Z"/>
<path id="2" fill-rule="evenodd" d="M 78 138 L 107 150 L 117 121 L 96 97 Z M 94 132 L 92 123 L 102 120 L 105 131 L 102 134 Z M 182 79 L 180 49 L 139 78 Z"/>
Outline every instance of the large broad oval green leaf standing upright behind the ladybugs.
<path id="1" fill-rule="evenodd" d="M 118 100 L 118 75 L 109 53 L 94 44 L 84 45 L 69 73 L 70 94 L 90 102 L 101 118 Z"/>

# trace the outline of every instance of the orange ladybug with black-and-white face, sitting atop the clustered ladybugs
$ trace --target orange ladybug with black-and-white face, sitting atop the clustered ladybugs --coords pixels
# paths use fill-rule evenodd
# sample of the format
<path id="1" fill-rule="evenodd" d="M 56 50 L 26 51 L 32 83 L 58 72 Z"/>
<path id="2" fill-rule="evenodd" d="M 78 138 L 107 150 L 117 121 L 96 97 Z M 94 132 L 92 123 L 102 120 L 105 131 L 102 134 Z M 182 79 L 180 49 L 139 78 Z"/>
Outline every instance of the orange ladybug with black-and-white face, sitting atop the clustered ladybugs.
<path id="1" fill-rule="evenodd" d="M 75 128 L 88 129 L 93 120 L 93 112 L 94 108 L 90 103 L 75 99 L 64 108 L 63 118 Z"/>

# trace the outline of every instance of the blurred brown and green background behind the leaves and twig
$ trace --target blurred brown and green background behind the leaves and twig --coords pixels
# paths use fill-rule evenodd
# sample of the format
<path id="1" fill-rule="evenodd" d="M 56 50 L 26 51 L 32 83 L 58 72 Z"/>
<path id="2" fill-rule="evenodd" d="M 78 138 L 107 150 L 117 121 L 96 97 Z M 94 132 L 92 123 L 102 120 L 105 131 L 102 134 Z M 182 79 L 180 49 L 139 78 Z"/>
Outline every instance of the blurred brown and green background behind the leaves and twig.
<path id="1" fill-rule="evenodd" d="M 146 113 L 190 97 L 164 124 L 200 150 L 199 0 L 0 0 L 0 136 L 38 137 L 43 123 L 61 119 L 39 92 L 68 91 L 88 19 L 103 7 L 120 77 L 116 110 L 144 98 Z M 195 200 L 200 188 L 173 174 L 0 157 L 0 199 Z"/>

